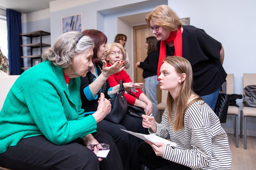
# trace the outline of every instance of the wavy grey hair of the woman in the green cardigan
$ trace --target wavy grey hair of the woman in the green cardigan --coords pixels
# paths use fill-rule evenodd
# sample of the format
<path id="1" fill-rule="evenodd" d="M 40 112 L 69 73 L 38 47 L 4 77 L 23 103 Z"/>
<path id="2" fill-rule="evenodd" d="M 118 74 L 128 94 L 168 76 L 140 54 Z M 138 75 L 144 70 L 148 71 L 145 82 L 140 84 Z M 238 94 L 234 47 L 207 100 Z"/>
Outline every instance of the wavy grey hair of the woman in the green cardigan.
<path id="1" fill-rule="evenodd" d="M 82 36 L 76 43 L 75 38 L 78 34 L 77 31 L 62 34 L 53 46 L 42 53 L 42 58 L 51 61 L 57 67 L 69 67 L 75 53 L 86 53 L 94 48 L 94 41 L 89 36 Z"/>

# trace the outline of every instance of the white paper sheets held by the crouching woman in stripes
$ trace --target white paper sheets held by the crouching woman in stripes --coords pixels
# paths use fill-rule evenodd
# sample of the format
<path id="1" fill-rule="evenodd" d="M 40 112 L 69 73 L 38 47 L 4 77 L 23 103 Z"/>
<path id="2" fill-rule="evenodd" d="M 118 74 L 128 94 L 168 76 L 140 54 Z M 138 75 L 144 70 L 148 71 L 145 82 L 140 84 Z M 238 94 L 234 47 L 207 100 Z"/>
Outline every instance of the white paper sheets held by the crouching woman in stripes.
<path id="1" fill-rule="evenodd" d="M 141 138 L 142 140 L 147 140 L 147 141 L 150 141 L 152 143 L 156 143 L 156 142 L 161 142 L 161 143 L 164 143 L 165 145 L 170 145 L 170 146 L 177 146 L 176 143 L 173 143 L 169 140 L 166 140 L 164 138 L 161 138 L 155 134 L 150 134 L 150 135 L 145 135 L 145 134 L 140 134 L 140 133 L 135 133 L 135 132 L 131 132 L 131 131 L 126 131 L 124 129 L 121 129 L 129 134 L 132 134 L 138 138 Z M 155 144 L 156 145 L 156 144 Z M 157 146 L 157 145 L 156 145 Z"/>

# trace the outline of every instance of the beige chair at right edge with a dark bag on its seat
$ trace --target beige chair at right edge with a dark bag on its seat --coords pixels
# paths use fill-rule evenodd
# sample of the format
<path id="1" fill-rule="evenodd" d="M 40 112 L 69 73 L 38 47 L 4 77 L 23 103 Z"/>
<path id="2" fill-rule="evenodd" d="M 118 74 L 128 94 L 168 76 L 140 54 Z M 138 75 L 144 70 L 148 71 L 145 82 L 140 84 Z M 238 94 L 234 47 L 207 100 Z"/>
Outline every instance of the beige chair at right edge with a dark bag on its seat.
<path id="1" fill-rule="evenodd" d="M 248 85 L 256 85 L 256 74 L 244 73 L 244 87 Z M 247 117 L 256 117 L 256 108 L 255 107 L 243 107 L 244 115 L 244 149 L 246 149 L 246 118 Z"/>

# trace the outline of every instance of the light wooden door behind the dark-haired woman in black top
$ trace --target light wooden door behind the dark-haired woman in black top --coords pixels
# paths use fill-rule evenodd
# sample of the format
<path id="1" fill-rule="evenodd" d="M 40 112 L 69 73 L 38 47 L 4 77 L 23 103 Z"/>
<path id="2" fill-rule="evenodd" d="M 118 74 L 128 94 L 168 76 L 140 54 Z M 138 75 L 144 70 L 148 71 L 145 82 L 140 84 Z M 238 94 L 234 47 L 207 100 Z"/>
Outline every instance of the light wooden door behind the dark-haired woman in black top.
<path id="1" fill-rule="evenodd" d="M 140 25 L 133 27 L 133 64 L 134 64 L 134 82 L 143 83 L 143 69 L 136 68 L 135 64 L 138 61 L 144 61 L 147 57 L 147 49 L 145 48 L 146 38 L 149 36 L 154 36 L 152 32 L 148 29 L 147 25 Z M 162 92 L 157 87 L 157 101 L 161 103 Z"/>

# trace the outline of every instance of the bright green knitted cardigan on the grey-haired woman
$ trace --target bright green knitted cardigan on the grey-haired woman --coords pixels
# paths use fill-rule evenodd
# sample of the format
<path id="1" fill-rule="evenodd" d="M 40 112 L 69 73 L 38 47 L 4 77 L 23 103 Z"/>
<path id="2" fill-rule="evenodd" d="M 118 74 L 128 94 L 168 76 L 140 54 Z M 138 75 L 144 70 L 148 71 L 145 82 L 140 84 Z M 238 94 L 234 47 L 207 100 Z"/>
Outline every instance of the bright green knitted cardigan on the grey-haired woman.
<path id="1" fill-rule="evenodd" d="M 22 138 L 44 135 L 64 145 L 96 132 L 94 117 L 83 115 L 79 90 L 80 78 L 71 78 L 67 87 L 62 69 L 50 61 L 22 73 L 0 112 L 0 153 Z"/>

